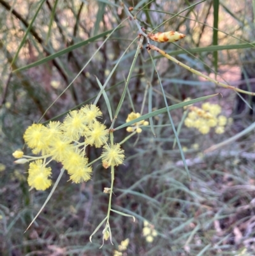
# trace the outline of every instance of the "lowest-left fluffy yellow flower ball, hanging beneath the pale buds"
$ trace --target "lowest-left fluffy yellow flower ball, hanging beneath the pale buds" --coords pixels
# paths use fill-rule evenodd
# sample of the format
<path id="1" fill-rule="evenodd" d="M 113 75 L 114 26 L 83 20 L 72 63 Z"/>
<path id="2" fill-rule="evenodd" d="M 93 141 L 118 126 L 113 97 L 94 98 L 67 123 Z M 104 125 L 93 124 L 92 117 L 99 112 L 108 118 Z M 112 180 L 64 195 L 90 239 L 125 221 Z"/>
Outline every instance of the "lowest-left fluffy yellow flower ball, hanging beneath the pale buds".
<path id="1" fill-rule="evenodd" d="M 29 164 L 29 176 L 27 182 L 29 186 L 36 190 L 46 190 L 52 181 L 48 177 L 52 174 L 50 167 L 45 167 L 43 160 L 36 160 Z"/>

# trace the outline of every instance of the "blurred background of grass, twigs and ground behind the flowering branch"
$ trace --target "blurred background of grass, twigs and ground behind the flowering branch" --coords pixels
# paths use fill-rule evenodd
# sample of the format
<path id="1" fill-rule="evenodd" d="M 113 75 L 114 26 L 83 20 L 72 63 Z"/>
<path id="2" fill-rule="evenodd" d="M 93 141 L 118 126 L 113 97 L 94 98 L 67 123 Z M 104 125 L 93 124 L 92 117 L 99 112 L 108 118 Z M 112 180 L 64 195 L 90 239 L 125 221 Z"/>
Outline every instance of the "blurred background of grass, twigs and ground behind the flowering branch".
<path id="1" fill-rule="evenodd" d="M 135 215 L 136 222 L 112 214 L 113 246 L 107 241 L 99 249 L 100 230 L 93 237 L 93 243 L 89 243 L 89 236 L 105 218 L 108 206 L 103 188 L 110 186 L 110 172 L 98 163 L 94 164 L 92 180 L 87 183 L 72 184 L 68 176 L 62 177 L 43 213 L 24 234 L 50 191 L 29 192 L 28 166 L 14 165 L 11 153 L 23 149 L 25 129 L 38 122 L 43 114 L 42 122 L 54 118 L 62 121 L 64 113 L 91 103 L 96 97 L 99 93 L 96 77 L 103 84 L 121 54 L 138 35 L 135 22 L 126 20 L 83 68 L 105 40 L 107 31 L 128 17 L 123 4 L 134 7 L 133 15 L 143 8 L 137 15 L 137 22 L 148 31 L 162 24 L 157 31 L 175 30 L 186 34 L 186 38 L 177 43 L 159 45 L 154 42 L 170 55 L 217 80 L 249 91 L 254 89 L 251 45 L 254 1 L 195 3 L 198 2 L 0 0 L 1 255 L 114 255 L 113 251 L 126 238 L 129 238 L 129 245 L 123 255 L 254 255 L 254 129 L 238 140 L 230 140 L 217 151 L 202 154 L 214 144 L 235 138 L 252 124 L 253 114 L 247 107 L 247 103 L 252 107 L 252 98 L 244 97 L 247 102 L 244 103 L 234 91 L 215 87 L 158 54 L 154 55 L 154 60 L 168 105 L 187 97 L 221 93 L 222 97 L 213 98 L 212 102 L 221 105 L 222 114 L 234 118 L 233 124 L 221 135 L 214 132 L 201 135 L 182 126 L 179 139 L 186 149 L 192 180 L 187 179 L 179 149 L 173 148 L 175 137 L 169 119 L 162 114 L 154 118 L 156 137 L 147 126 L 123 145 L 126 160 L 115 172 L 112 205 L 118 211 Z M 213 26 L 219 29 L 218 33 Z M 24 45 L 14 59 L 28 27 L 30 31 Z M 90 38 L 92 40 L 86 43 Z M 85 43 L 77 45 L 82 42 Z M 113 110 L 122 95 L 137 43 L 131 45 L 106 87 Z M 117 125 L 125 123 L 132 106 L 135 112 L 140 112 L 143 100 L 143 114 L 149 111 L 149 87 L 152 88 L 153 109 L 165 107 L 145 46 L 144 40 L 129 84 L 130 96 L 124 100 Z M 69 50 L 61 54 L 64 49 Z M 27 66 L 52 54 L 57 57 L 31 68 Z M 213 70 L 217 70 L 217 76 Z M 103 111 L 103 121 L 110 127 L 102 97 L 98 105 Z M 171 112 L 176 126 L 182 120 L 183 111 Z M 128 133 L 122 129 L 114 135 L 118 142 Z M 29 154 L 26 148 L 24 151 Z M 93 148 L 87 150 L 91 160 L 99 154 L 101 151 Z M 61 166 L 55 164 L 52 169 L 55 180 Z M 145 220 L 157 231 L 151 243 L 143 237 Z"/>

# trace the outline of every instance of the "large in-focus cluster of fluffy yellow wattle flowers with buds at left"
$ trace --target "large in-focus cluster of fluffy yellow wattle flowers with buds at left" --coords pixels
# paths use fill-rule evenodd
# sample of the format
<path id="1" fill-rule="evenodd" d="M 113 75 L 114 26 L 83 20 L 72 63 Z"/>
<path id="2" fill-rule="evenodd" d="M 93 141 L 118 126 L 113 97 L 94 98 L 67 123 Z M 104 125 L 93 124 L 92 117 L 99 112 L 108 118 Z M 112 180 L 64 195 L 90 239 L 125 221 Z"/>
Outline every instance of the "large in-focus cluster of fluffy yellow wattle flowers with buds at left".
<path id="1" fill-rule="evenodd" d="M 41 156 L 24 156 L 22 151 L 15 151 L 13 156 L 20 158 L 15 163 L 25 163 L 36 159 L 29 165 L 29 186 L 36 190 L 46 190 L 52 183 L 52 174 L 48 163 L 52 160 L 61 162 L 67 170 L 71 181 L 81 183 L 91 177 L 92 167 L 85 156 L 88 145 L 104 147 L 103 166 L 119 165 L 124 160 L 124 150 L 119 144 L 106 144 L 109 132 L 97 118 L 102 113 L 96 105 L 85 105 L 80 110 L 73 110 L 63 123 L 51 121 L 43 124 L 32 124 L 24 133 L 24 140 L 34 154 Z M 82 141 L 82 142 L 80 142 Z"/>

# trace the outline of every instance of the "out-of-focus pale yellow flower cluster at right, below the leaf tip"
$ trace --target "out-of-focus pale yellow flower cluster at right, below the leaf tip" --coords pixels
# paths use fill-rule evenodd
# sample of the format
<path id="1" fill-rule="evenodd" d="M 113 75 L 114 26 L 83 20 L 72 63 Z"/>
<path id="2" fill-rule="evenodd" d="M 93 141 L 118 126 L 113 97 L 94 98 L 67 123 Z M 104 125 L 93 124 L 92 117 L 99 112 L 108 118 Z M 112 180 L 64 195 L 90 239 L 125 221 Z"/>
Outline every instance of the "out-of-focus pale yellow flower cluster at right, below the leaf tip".
<path id="1" fill-rule="evenodd" d="M 219 116 L 221 113 L 220 105 L 207 102 L 203 103 L 201 108 L 190 106 L 187 109 L 190 110 L 184 120 L 187 127 L 194 127 L 202 134 L 210 132 L 210 128 L 215 128 L 215 133 L 224 133 L 228 119 L 226 116 Z"/>

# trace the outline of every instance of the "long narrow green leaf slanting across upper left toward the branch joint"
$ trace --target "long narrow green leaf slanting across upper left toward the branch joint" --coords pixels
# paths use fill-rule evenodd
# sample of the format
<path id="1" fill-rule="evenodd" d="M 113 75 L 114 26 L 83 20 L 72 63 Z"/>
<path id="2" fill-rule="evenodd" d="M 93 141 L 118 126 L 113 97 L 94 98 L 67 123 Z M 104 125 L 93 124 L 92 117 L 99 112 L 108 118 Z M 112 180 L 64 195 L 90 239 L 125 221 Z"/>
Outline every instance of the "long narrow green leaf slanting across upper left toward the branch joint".
<path id="1" fill-rule="evenodd" d="M 121 29 L 122 27 L 124 27 L 124 26 L 118 27 L 117 29 L 115 29 L 115 31 Z M 111 33 L 112 31 L 113 31 L 113 29 L 108 30 L 108 31 L 106 31 L 106 32 L 104 32 L 104 33 L 98 34 L 97 36 L 93 36 L 92 38 L 89 38 L 88 40 L 81 41 L 80 43 L 77 43 L 77 44 L 75 44 L 75 45 L 71 45 L 70 47 L 67 47 L 66 49 L 60 50 L 59 52 L 56 52 L 55 54 L 52 54 L 52 55 L 47 56 L 47 57 L 45 57 L 45 58 L 43 58 L 43 59 L 40 59 L 40 61 L 36 61 L 36 62 L 34 62 L 34 63 L 31 63 L 31 64 L 27 65 L 27 66 L 23 66 L 22 68 L 18 68 L 17 70 L 13 70 L 13 72 L 22 71 L 22 70 L 27 70 L 27 69 L 29 69 L 29 68 L 33 68 L 34 66 L 38 66 L 38 65 L 40 65 L 40 64 L 46 63 L 47 61 L 51 61 L 52 59 L 55 59 L 56 57 L 59 57 L 59 56 L 61 56 L 61 55 L 63 55 L 63 54 L 66 54 L 66 53 L 68 53 L 68 52 L 71 52 L 72 50 L 75 50 L 75 49 L 77 49 L 77 48 L 79 48 L 79 47 L 82 47 L 82 46 L 84 46 L 84 45 L 87 45 L 88 43 L 91 43 L 92 41 L 95 41 L 95 40 L 97 40 L 98 38 L 101 38 L 101 37 L 103 37 L 103 36 L 106 36 L 106 34 L 109 34 L 109 33 Z"/>

